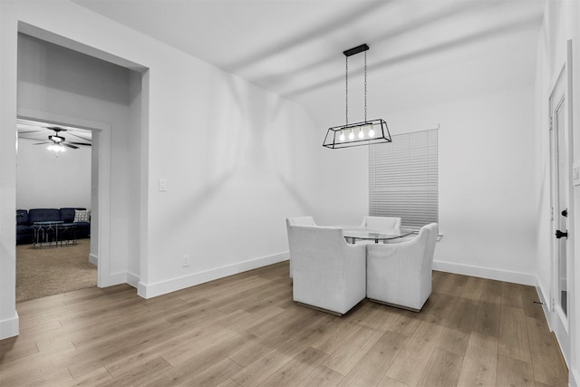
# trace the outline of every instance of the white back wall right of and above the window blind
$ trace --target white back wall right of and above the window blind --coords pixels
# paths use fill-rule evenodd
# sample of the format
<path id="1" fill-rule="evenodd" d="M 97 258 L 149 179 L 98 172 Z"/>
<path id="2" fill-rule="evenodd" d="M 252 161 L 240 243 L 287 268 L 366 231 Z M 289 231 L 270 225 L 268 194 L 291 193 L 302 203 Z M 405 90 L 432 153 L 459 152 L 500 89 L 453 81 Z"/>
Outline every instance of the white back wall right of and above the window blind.
<path id="1" fill-rule="evenodd" d="M 390 116 L 398 132 L 439 131 L 436 269 L 535 285 L 534 89 Z"/>

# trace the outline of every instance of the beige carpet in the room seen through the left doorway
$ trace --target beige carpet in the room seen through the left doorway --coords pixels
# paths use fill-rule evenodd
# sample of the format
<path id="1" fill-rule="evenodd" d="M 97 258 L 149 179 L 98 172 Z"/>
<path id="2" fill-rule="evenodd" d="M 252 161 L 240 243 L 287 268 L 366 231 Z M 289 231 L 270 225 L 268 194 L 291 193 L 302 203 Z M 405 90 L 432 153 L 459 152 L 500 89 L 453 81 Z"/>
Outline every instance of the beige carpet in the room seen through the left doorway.
<path id="1" fill-rule="evenodd" d="M 79 239 L 75 246 L 16 246 L 16 302 L 96 286 L 90 247 L 91 239 Z"/>

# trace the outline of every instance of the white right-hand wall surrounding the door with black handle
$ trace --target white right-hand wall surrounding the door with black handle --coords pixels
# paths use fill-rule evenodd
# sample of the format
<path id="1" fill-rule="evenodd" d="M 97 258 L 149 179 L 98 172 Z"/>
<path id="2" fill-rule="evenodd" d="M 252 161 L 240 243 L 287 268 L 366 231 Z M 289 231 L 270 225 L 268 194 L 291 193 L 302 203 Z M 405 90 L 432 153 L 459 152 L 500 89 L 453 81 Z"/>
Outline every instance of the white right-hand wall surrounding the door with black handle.
<path id="1" fill-rule="evenodd" d="M 538 230 L 536 235 L 536 266 L 538 287 L 549 303 L 553 297 L 550 286 L 552 284 L 552 242 L 554 237 L 550 227 L 550 148 L 549 131 L 549 96 L 556 76 L 562 69 L 566 57 L 566 42 L 573 43 L 573 87 L 568 98 L 573 98 L 573 160 L 580 162 L 580 3 L 572 1 L 546 2 L 546 13 L 542 33 L 540 34 L 537 52 L 536 67 L 536 187 L 535 201 Z M 572 281 L 568 284 L 570 294 L 570 310 L 568 319 L 570 325 L 570 372 L 571 386 L 580 385 L 580 187 L 574 188 L 574 198 L 571 203 L 574 207 L 574 250 L 571 259 L 572 266 L 568 267 L 572 273 Z M 550 308 L 546 308 L 548 322 Z"/>

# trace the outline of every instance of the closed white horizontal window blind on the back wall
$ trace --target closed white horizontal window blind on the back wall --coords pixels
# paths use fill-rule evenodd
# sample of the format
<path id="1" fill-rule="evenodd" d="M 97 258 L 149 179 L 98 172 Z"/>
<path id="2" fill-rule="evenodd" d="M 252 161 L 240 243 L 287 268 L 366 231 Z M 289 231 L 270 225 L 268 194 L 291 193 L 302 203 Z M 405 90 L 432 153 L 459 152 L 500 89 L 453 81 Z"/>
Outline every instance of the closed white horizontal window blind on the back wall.
<path id="1" fill-rule="evenodd" d="M 439 223 L 438 130 L 392 136 L 370 146 L 369 215 L 400 217 L 419 229 Z"/>

